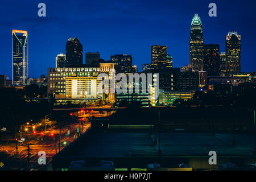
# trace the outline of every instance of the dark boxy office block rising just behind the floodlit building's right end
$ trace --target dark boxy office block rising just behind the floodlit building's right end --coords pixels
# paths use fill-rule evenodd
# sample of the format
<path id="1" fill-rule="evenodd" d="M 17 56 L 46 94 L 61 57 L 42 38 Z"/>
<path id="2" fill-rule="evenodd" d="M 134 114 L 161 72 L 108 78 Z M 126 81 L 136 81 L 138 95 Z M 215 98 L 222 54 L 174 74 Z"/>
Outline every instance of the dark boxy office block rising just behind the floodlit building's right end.
<path id="1" fill-rule="evenodd" d="M 132 72 L 132 57 L 131 55 L 114 55 L 110 56 L 111 62 L 115 63 L 115 71 L 117 73 Z"/>

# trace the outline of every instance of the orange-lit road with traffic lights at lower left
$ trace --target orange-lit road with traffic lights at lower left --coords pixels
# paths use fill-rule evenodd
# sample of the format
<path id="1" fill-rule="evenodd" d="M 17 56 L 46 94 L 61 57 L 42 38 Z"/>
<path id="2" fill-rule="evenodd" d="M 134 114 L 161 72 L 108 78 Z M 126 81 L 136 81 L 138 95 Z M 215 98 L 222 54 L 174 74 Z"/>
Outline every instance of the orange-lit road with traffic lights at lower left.
<path id="1" fill-rule="evenodd" d="M 77 127 L 80 127 L 80 133 L 77 133 Z M 87 129 L 89 129 L 90 123 L 85 123 L 83 129 L 81 130 L 80 123 L 72 123 L 68 126 L 63 127 L 61 129 L 61 142 L 60 142 L 60 150 L 62 150 L 65 146 L 68 145 L 68 142 L 73 142 L 79 135 L 84 133 Z M 67 135 L 69 130 L 69 136 Z M 58 129 L 49 128 L 44 135 L 42 136 L 41 133 L 38 134 L 27 134 L 27 143 L 32 143 L 33 145 L 30 146 L 30 168 L 33 169 L 45 169 L 45 165 L 38 164 L 38 152 L 44 151 L 46 152 L 46 163 L 49 164 L 51 162 L 52 156 L 59 152 L 59 133 Z M 53 136 L 52 136 L 53 134 Z M 55 135 L 57 134 L 57 147 L 55 143 Z M 43 140 L 42 140 L 43 138 Z M 26 141 L 25 141 L 26 142 Z M 25 142 L 23 144 L 25 144 Z M 66 144 L 65 144 L 65 143 Z M 0 162 L 4 164 L 1 169 L 23 169 L 27 167 L 27 146 L 21 146 L 20 143 L 17 144 L 18 149 L 16 150 L 15 144 L 8 144 L 7 146 L 3 147 L 4 153 L 8 154 L 9 156 L 5 159 L 0 158 Z M 2 148 L 1 148 L 2 150 Z M 3 151 L 1 151 L 3 154 Z M 18 155 L 17 155 L 18 153 Z"/>

